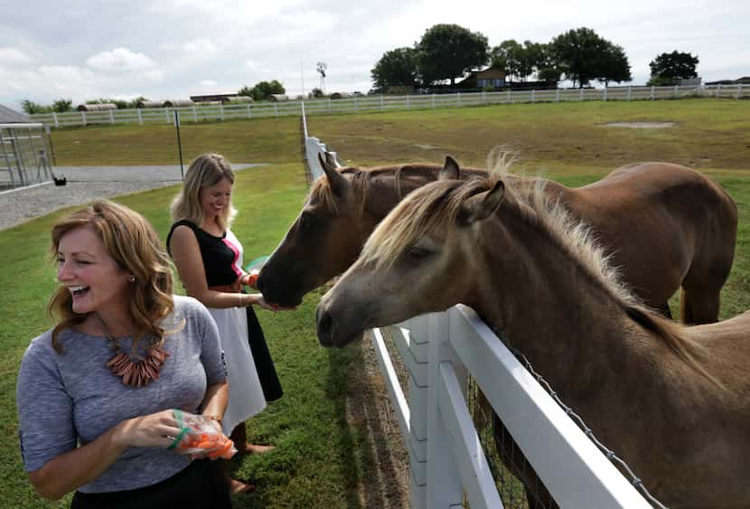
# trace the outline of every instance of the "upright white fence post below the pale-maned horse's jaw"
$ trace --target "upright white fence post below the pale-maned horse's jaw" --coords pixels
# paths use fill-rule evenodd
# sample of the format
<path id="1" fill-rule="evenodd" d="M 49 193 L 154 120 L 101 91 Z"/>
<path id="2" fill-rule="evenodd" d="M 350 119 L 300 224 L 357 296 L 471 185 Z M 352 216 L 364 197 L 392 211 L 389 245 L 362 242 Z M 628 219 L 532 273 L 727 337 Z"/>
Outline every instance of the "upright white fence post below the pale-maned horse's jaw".
<path id="1" fill-rule="evenodd" d="M 438 408 L 440 364 L 451 363 L 454 355 L 448 343 L 448 318 L 445 313 L 428 316 L 429 367 L 427 389 L 427 507 L 437 509 L 461 506 L 464 486 L 452 450 L 445 422 Z"/>

